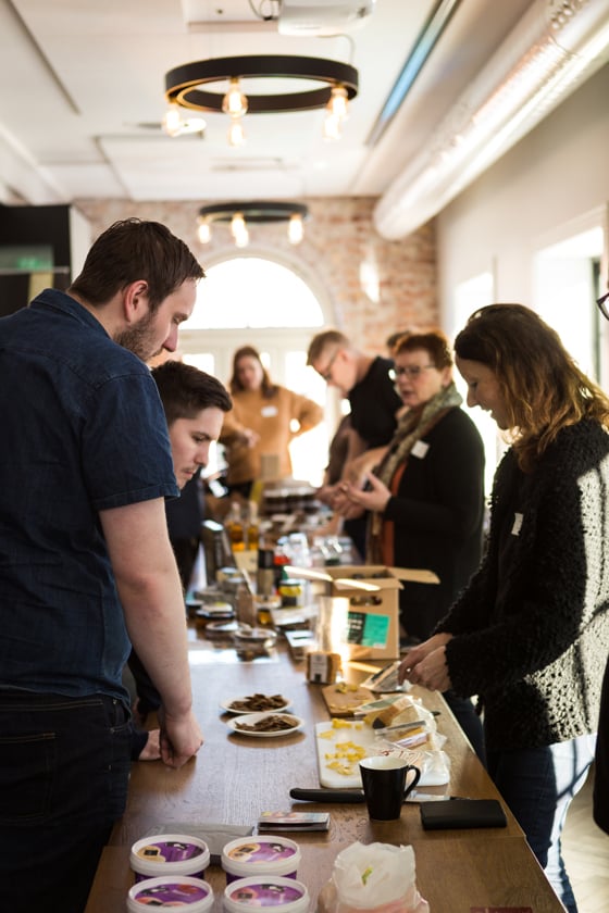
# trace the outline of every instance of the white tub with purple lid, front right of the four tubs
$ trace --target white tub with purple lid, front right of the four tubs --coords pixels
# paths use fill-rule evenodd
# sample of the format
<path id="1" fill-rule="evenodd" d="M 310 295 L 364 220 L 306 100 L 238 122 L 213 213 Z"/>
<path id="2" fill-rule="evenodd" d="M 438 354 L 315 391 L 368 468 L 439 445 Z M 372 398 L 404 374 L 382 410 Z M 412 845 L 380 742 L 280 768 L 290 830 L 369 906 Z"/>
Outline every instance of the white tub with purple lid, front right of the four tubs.
<path id="1" fill-rule="evenodd" d="M 311 903 L 307 886 L 281 875 L 251 875 L 226 885 L 225 913 L 254 913 L 272 906 L 278 913 L 308 913 Z"/>

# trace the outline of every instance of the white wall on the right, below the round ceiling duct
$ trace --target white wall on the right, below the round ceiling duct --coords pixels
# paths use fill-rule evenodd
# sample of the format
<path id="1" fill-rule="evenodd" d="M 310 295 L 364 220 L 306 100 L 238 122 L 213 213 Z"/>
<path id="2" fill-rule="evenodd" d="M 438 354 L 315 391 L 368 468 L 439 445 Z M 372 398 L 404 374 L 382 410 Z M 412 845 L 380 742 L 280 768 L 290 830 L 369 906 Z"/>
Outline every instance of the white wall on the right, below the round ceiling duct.
<path id="1" fill-rule="evenodd" d="M 609 201 L 609 66 L 437 216 L 440 309 L 493 272 L 495 300 L 533 305 L 534 255 Z"/>

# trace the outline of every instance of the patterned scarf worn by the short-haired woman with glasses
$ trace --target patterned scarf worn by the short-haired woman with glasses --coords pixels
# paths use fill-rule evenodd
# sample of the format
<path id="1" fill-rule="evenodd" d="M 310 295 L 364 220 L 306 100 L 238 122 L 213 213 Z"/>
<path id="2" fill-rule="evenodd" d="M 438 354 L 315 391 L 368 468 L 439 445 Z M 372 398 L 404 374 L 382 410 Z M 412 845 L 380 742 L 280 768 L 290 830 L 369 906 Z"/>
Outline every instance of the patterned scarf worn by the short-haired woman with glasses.
<path id="1" fill-rule="evenodd" d="M 398 422 L 394 439 L 381 463 L 374 470 L 377 476 L 387 488 L 391 486 L 397 470 L 406 463 L 408 455 L 418 440 L 421 440 L 433 426 L 443 418 L 451 409 L 456 409 L 463 402 L 451 380 L 447 387 L 443 387 L 423 407 L 411 409 Z M 374 511 L 370 515 L 368 525 L 366 562 L 369 564 L 381 564 L 382 546 L 381 531 L 383 528 L 383 514 Z"/>

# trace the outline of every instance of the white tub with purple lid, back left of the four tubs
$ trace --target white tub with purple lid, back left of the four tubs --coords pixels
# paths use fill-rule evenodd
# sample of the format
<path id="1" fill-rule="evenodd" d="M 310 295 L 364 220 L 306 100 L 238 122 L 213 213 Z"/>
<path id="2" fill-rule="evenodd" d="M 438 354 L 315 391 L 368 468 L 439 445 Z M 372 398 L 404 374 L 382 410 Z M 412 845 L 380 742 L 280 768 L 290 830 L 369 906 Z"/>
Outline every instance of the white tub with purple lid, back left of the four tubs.
<path id="1" fill-rule="evenodd" d="M 145 837 L 133 845 L 129 858 L 136 883 L 182 875 L 203 879 L 209 861 L 208 845 L 187 834 Z"/>

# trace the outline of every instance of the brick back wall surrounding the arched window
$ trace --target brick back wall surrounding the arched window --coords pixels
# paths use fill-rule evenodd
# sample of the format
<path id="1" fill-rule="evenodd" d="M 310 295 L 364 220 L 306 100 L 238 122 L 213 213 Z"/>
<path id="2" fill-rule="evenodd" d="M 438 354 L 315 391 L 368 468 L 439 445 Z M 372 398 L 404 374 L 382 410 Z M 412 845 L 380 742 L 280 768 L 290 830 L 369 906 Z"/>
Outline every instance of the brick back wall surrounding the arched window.
<path id="1" fill-rule="evenodd" d="M 250 249 L 295 268 L 322 301 L 328 323 L 362 348 L 381 353 L 390 333 L 437 323 L 433 222 L 399 241 L 386 241 L 372 222 L 374 198 L 318 198 L 307 203 L 310 216 L 301 245 L 289 245 L 285 225 L 272 224 L 250 228 Z M 198 241 L 200 201 L 78 200 L 75 205 L 90 222 L 94 238 L 115 220 L 137 216 L 167 225 L 203 267 L 238 253 L 225 225 L 214 226 L 209 245 Z"/>

